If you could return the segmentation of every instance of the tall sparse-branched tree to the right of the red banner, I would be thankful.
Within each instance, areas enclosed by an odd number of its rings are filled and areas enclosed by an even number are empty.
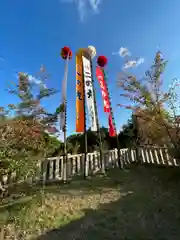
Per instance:
[[[138,135],[142,144],[164,144],[171,139],[170,118],[165,109],[169,93],[162,91],[162,74],[166,64],[162,54],[157,52],[145,78],[137,79],[127,73],[120,74],[118,84],[125,92],[121,96],[126,97],[130,105],[119,106],[133,110],[137,117]]]

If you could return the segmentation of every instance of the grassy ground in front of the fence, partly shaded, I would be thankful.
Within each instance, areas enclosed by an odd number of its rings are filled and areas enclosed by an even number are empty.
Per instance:
[[[43,198],[39,188],[26,190],[32,200],[0,209],[5,239],[180,239],[177,169],[114,169],[106,177],[48,186]]]

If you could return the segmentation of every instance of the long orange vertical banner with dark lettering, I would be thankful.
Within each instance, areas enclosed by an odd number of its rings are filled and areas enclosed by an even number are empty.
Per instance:
[[[84,132],[84,83],[82,53],[76,54],[76,132]]]

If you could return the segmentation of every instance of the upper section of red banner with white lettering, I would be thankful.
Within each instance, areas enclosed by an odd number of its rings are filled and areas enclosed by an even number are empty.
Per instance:
[[[110,112],[110,101],[108,97],[108,91],[107,91],[107,86],[106,82],[104,79],[104,73],[103,70],[100,67],[96,67],[96,77],[99,81],[100,88],[102,91],[102,97],[103,97],[103,102],[104,102],[104,112]]]

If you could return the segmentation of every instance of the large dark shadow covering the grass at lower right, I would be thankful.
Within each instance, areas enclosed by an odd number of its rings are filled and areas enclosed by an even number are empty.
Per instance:
[[[109,171],[108,178],[116,187],[119,184],[118,201],[84,209],[84,217],[37,240],[180,239],[179,169],[136,166],[125,172]]]

